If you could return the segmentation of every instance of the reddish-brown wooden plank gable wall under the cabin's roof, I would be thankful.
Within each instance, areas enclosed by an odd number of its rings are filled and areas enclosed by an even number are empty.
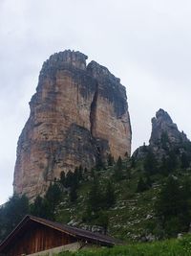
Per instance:
[[[76,239],[68,234],[39,223],[32,223],[24,232],[16,236],[5,254],[7,256],[32,254],[74,242]]]

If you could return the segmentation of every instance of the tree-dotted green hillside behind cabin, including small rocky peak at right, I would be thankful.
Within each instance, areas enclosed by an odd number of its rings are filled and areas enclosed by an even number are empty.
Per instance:
[[[80,166],[74,173],[62,172],[44,198],[38,196],[31,205],[27,198],[14,195],[0,209],[0,239],[24,213],[81,228],[102,229],[126,242],[154,241],[188,232],[191,143],[165,112],[160,110],[153,124],[149,146],[143,145],[132,157],[118,157],[115,163],[108,155],[108,164],[102,169],[100,165],[91,170]],[[11,211],[14,216],[9,221]]]

